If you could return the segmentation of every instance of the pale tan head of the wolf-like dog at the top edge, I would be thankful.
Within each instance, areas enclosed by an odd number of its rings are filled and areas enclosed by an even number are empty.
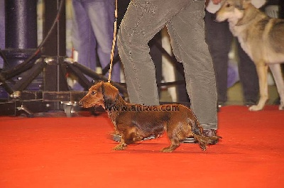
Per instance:
[[[253,6],[251,0],[224,0],[217,11],[216,20],[219,22],[228,20],[229,23],[236,25],[250,6]]]

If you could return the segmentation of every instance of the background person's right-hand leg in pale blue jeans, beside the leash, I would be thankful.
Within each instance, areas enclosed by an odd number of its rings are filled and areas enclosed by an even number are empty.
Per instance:
[[[97,55],[102,68],[107,67],[111,57],[112,40],[114,38],[114,1],[86,1],[84,7],[87,9],[89,21],[92,24],[97,40]],[[105,75],[106,77],[108,74]],[[111,80],[120,81],[120,65],[116,63],[112,67]]]

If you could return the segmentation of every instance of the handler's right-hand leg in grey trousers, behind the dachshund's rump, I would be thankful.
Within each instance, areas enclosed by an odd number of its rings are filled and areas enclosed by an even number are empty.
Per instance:
[[[195,1],[168,24],[173,52],[185,68],[192,111],[204,129],[217,129],[217,89],[204,40],[204,1]]]

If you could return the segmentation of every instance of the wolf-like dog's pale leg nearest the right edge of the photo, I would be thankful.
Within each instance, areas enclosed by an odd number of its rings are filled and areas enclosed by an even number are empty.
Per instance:
[[[271,69],[277,87],[277,91],[280,96],[279,110],[284,110],[284,82],[283,82],[280,64],[271,64],[268,66]]]

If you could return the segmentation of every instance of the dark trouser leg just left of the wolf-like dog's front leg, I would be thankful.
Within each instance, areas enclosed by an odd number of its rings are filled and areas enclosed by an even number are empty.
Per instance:
[[[259,96],[258,74],[256,65],[251,60],[249,55],[244,52],[238,41],[239,53],[239,78],[244,92],[244,104],[251,106],[256,104]]]

